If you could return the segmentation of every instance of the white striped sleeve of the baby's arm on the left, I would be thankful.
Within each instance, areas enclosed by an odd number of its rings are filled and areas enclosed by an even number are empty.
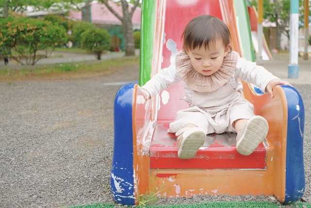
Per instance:
[[[166,90],[171,85],[177,84],[181,81],[180,76],[176,72],[175,63],[168,68],[160,70],[155,76],[141,87],[145,100],[157,95],[163,90]]]

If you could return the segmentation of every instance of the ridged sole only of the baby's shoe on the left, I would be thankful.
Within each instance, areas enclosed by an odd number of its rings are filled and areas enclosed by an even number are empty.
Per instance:
[[[183,141],[178,150],[180,159],[191,159],[205,142],[206,134],[201,129],[191,128],[184,132]]]

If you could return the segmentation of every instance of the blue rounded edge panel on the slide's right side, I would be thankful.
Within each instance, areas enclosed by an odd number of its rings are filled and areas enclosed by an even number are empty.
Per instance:
[[[299,93],[290,86],[281,86],[287,99],[288,126],[286,145],[285,201],[298,201],[305,192],[303,135],[305,109]]]

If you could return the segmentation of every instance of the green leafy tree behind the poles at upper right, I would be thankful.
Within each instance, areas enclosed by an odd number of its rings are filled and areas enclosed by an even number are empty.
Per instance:
[[[251,5],[257,8],[258,0],[251,0]],[[309,2],[310,4],[310,2]],[[281,34],[289,38],[291,0],[263,0],[263,19],[276,23],[276,49],[280,49]],[[303,1],[299,0],[299,19],[303,19]]]

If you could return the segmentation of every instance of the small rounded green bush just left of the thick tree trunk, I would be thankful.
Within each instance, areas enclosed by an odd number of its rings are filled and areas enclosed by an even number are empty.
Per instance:
[[[110,48],[110,41],[109,33],[101,28],[91,28],[81,34],[82,48],[93,52],[98,59]]]

